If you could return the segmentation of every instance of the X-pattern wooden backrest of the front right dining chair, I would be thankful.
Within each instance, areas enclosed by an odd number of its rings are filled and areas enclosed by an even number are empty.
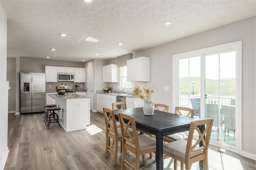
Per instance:
[[[185,159],[188,160],[193,152],[204,152],[204,154],[207,155],[208,152],[208,147],[210,143],[210,136],[212,133],[212,124],[213,124],[213,119],[200,119],[197,121],[192,121],[190,123],[190,129],[188,133],[188,142],[187,142],[187,147],[186,147],[186,154],[185,154]],[[205,126],[204,132],[201,133],[198,126]],[[196,132],[198,133],[198,140],[194,143],[193,142],[193,136],[194,136],[194,130],[196,129]],[[203,146],[202,147],[197,147],[197,145],[202,141]]]

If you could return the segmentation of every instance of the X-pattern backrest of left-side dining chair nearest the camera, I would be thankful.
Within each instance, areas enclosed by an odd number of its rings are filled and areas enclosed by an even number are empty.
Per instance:
[[[133,134],[137,134],[134,117],[130,115],[126,115],[124,113],[118,113],[118,117],[120,121],[120,128],[122,131],[123,145],[126,145],[127,143],[129,143],[129,145],[133,146],[133,148],[136,150],[136,154],[139,155],[140,145],[138,141],[138,135],[133,135]],[[124,122],[124,120],[128,122],[126,123]],[[128,128],[132,128],[132,133],[128,131]]]

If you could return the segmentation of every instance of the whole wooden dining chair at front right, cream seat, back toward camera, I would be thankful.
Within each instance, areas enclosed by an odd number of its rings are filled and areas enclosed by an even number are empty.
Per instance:
[[[212,132],[213,119],[201,119],[192,121],[188,134],[188,141],[179,140],[164,144],[164,154],[174,158],[174,170],[177,169],[177,161],[180,161],[181,167],[185,164],[185,169],[190,170],[190,165],[194,162],[203,160],[204,170],[208,170],[208,147],[210,143],[210,136]],[[203,133],[200,132],[198,126],[204,126]],[[199,139],[194,143],[194,129],[198,133]],[[203,146],[198,147],[202,141]]]

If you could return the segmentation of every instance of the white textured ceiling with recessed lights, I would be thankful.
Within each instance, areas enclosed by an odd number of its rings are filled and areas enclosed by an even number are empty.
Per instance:
[[[7,16],[8,57],[76,62],[116,58],[256,15],[254,0],[1,2]],[[164,25],[166,20],[172,24]],[[85,41],[87,37],[98,42]]]

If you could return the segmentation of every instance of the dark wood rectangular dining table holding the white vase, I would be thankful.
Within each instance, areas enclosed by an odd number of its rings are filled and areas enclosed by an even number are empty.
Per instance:
[[[163,136],[174,133],[188,131],[190,122],[198,118],[166,113],[163,111],[154,111],[154,115],[144,115],[142,107],[114,110],[116,119],[118,113],[132,115],[136,122],[136,127],[156,136],[156,169],[163,169]],[[204,131],[204,126],[199,127]],[[202,146],[202,143],[200,144]],[[203,169],[203,162],[200,161],[200,169]]]

